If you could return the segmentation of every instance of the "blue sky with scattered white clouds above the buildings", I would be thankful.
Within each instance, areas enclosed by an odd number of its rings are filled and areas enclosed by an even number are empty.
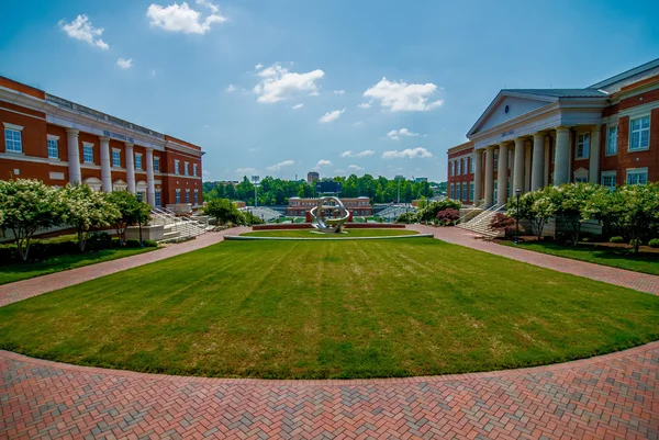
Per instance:
[[[501,88],[659,56],[658,2],[539,3],[11,1],[0,75],[202,146],[205,179],[445,180]]]

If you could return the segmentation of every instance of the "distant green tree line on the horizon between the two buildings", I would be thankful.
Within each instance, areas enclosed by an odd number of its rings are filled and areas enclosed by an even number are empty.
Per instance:
[[[387,179],[380,176],[373,178],[370,174],[357,177],[350,174],[348,178],[335,177],[333,179],[322,179],[322,181],[340,182],[342,198],[357,198],[366,195],[370,198],[371,203],[390,203],[398,200],[399,182],[393,179]],[[402,202],[411,202],[421,198],[432,198],[434,191],[431,185],[438,187],[439,192],[446,192],[446,182],[413,182],[402,180],[400,182],[400,196]],[[257,189],[259,205],[283,205],[293,196],[316,198],[315,183],[306,183],[305,180],[281,180],[272,177],[263,179]],[[203,182],[204,200],[228,199],[232,201],[242,200],[248,205],[254,205],[254,184],[247,179],[236,184],[223,184],[220,182]]]

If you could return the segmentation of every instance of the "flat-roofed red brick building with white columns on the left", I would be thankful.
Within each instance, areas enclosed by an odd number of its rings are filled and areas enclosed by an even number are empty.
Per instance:
[[[203,151],[0,77],[0,179],[126,190],[152,206],[202,203]]]

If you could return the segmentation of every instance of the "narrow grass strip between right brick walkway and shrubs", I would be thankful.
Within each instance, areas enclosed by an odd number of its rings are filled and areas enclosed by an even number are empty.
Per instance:
[[[515,246],[512,241],[499,242],[506,246]],[[572,247],[552,241],[526,241],[520,242],[516,246],[523,249],[535,250],[536,252],[659,275],[659,253],[640,252],[634,255],[630,249],[597,247],[585,244]]]

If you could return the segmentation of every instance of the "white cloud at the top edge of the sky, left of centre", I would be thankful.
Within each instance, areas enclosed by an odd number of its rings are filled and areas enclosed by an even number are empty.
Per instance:
[[[165,31],[182,32],[183,34],[205,34],[211,30],[213,23],[226,21],[215,4],[206,0],[197,0],[197,4],[210,9],[211,14],[202,20],[201,12],[191,9],[183,1],[180,5],[175,2],[168,7],[153,3],[146,10],[146,16],[150,19],[152,27],[161,27]]]

